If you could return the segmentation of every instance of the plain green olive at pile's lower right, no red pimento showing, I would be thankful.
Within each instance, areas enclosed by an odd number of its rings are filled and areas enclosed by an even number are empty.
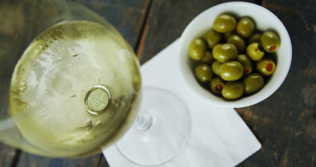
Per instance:
[[[252,94],[258,92],[263,87],[264,80],[260,74],[250,74],[244,79],[243,84],[245,86],[245,93]]]

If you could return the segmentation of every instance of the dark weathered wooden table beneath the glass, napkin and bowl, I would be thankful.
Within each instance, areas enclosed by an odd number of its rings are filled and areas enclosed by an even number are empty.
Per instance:
[[[199,13],[225,0],[77,0],[111,22],[141,64],[180,37]],[[238,166],[316,166],[316,1],[249,0],[272,11],[287,28],[292,65],[269,98],[237,112],[262,144]],[[0,144],[1,167],[107,167],[102,154],[44,158]]]

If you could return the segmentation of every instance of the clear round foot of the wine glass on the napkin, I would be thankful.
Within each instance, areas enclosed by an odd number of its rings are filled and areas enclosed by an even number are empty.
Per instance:
[[[183,150],[191,133],[191,117],[179,97],[167,90],[145,88],[138,115],[116,143],[125,158],[138,165],[155,166]]]

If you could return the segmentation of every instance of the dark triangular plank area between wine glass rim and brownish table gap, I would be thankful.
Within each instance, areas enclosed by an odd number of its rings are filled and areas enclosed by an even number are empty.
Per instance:
[[[110,22],[123,35],[133,49],[144,21],[149,0],[77,0]]]

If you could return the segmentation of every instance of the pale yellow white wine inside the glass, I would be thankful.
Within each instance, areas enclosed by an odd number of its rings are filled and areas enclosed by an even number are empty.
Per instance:
[[[34,147],[57,157],[100,152],[131,125],[140,102],[135,53],[110,25],[60,22],[15,66],[9,113]]]

